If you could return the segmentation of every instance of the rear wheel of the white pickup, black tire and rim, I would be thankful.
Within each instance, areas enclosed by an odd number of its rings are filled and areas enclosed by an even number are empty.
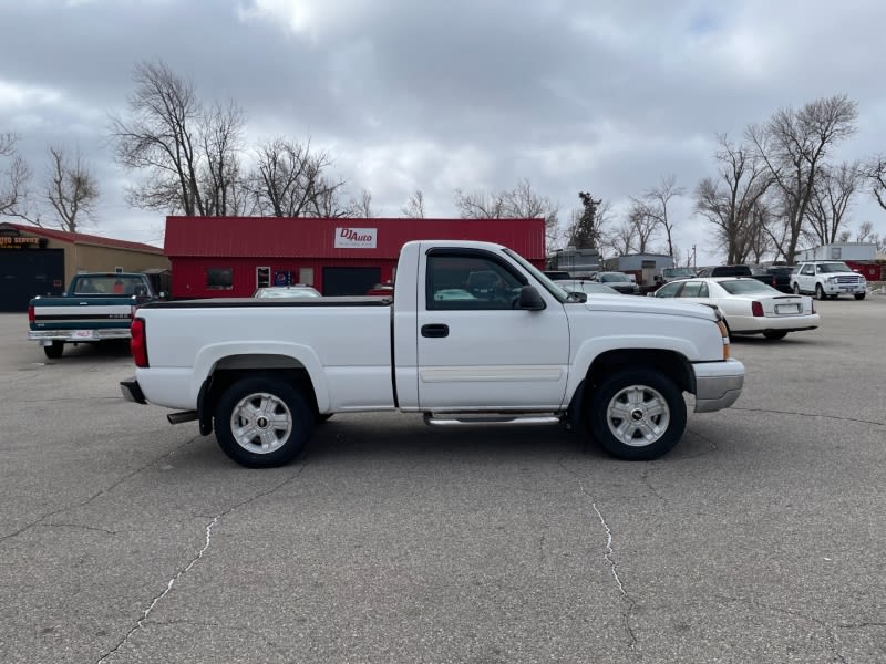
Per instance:
[[[301,454],[315,417],[292,385],[274,376],[254,376],[234,383],[222,395],[215,409],[215,437],[241,466],[282,466]]]

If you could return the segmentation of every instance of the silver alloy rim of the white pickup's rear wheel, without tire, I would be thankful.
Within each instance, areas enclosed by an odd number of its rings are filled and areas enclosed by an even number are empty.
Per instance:
[[[279,449],[289,439],[292,413],[274,394],[249,394],[237,402],[231,411],[230,433],[244,449],[268,454]]]

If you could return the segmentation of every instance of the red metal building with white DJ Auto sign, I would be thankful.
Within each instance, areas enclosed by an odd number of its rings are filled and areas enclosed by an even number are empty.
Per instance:
[[[286,283],[354,295],[394,279],[409,240],[498,242],[545,264],[544,219],[166,217],[164,253],[173,298],[249,297]]]

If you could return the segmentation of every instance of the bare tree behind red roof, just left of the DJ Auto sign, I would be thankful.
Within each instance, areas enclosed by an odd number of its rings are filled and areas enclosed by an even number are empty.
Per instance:
[[[348,216],[339,203],[344,181],[323,175],[331,163],[327,153],[312,152],[310,143],[278,137],[261,145],[248,178],[258,209],[272,217]]]

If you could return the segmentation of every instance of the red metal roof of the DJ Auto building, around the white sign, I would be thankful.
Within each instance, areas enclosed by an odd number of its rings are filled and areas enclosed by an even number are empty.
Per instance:
[[[374,229],[374,248],[337,248],[337,229]],[[544,219],[166,217],[169,257],[396,258],[410,240],[486,240],[545,258]]]

